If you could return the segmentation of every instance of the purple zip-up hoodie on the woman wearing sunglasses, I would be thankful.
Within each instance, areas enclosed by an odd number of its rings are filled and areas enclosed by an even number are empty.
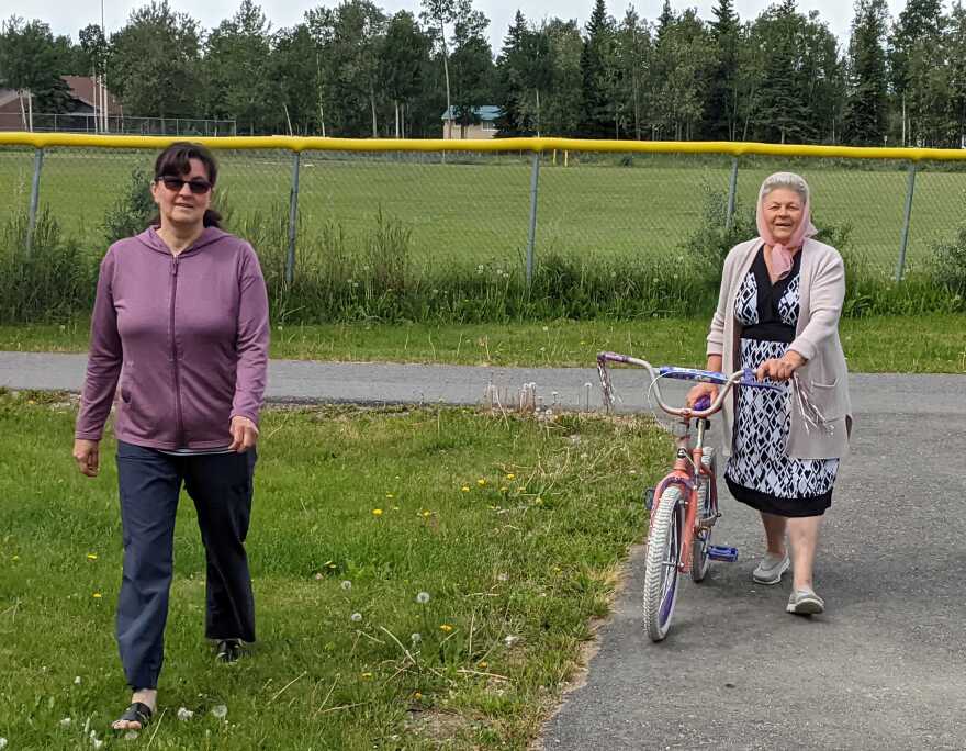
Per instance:
[[[100,440],[121,380],[114,435],[158,449],[232,442],[258,423],[268,369],[268,295],[251,246],[206,227],[177,257],[154,227],[101,261],[77,438]]]

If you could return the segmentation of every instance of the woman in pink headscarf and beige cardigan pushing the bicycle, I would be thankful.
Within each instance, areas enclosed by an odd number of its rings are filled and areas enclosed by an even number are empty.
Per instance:
[[[761,514],[767,552],[754,581],[778,584],[791,568],[786,609],[810,615],[824,610],[812,581],[816,547],[852,428],[838,328],[845,274],[839,253],[812,239],[809,189],[799,176],[778,172],[764,181],[757,231],[724,260],[707,367],[749,368],[759,380],[783,384],[739,389],[726,401],[724,480]],[[717,391],[699,384],[688,404]]]

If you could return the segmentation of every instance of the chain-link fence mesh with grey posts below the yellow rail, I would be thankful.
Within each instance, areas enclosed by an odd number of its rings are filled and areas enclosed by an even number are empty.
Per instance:
[[[386,243],[405,246],[400,262],[427,278],[460,269],[529,283],[552,259],[611,264],[613,274],[622,261],[687,264],[710,225],[753,236],[759,187],[777,170],[808,180],[816,224],[845,238],[843,253],[861,260],[853,268],[898,281],[929,269],[935,248],[956,237],[966,198],[962,162],[946,160],[598,153],[594,142],[538,153],[209,143],[226,227],[252,243],[267,276],[288,284],[327,264],[368,271],[386,262]],[[0,224],[26,216],[32,231],[44,215],[100,257],[113,239],[109,214],[130,202],[138,181],[147,187],[156,153],[154,144],[4,145],[0,135]],[[30,243],[29,232],[26,254]]]

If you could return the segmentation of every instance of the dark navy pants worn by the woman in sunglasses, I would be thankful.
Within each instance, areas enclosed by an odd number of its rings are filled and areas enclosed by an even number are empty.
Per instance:
[[[245,553],[255,461],[255,449],[176,457],[117,442],[124,536],[117,647],[132,688],[155,688],[161,672],[182,483],[198,509],[207,559],[205,637],[255,641]]]

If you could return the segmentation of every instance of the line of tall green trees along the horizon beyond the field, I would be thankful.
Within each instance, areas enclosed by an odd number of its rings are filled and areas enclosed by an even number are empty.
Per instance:
[[[42,21],[0,30],[0,86],[63,112],[61,75],[104,75],[139,116],[232,119],[239,133],[430,137],[502,110],[499,135],[959,147],[966,134],[966,10],[956,0],[855,0],[846,41],[817,11],[778,0],[741,19],[665,0],[649,21],[595,0],[587,24],[518,11],[498,51],[472,0],[387,14],[370,0],[306,11],[273,30],[261,8],[203,29],[154,0],[106,37]],[[453,135],[459,136],[457,132]]]

